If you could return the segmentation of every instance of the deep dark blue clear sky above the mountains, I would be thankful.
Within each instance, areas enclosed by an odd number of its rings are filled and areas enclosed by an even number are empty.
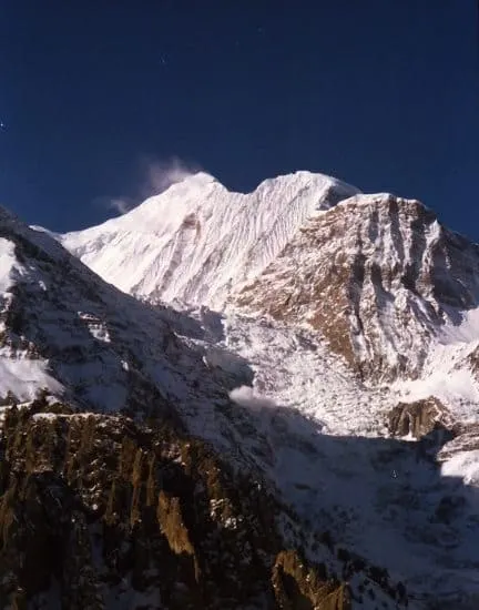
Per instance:
[[[3,0],[0,202],[81,228],[172,157],[417,197],[479,240],[473,0]]]

